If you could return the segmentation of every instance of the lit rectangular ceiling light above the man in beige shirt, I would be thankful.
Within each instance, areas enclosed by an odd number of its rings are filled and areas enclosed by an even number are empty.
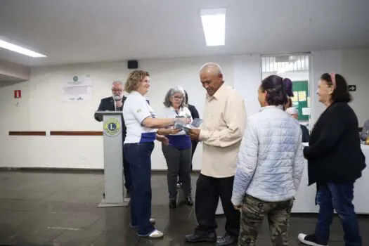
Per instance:
[[[226,8],[202,9],[200,12],[207,46],[226,43]]]

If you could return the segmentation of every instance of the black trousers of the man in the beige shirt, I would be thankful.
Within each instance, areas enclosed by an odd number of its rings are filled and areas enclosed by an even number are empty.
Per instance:
[[[198,227],[195,234],[205,235],[215,231],[216,207],[219,197],[226,214],[226,232],[238,236],[240,233],[240,212],[235,210],[232,202],[233,181],[235,177],[213,178],[200,174],[196,183],[195,214]]]

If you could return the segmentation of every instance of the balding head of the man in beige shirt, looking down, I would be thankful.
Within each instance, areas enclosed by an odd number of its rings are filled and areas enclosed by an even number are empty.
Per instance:
[[[200,80],[207,94],[213,96],[224,83],[221,66],[216,63],[205,63],[200,68]]]

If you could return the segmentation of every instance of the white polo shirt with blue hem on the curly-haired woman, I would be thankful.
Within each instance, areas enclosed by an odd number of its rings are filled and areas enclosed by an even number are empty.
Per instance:
[[[156,139],[157,129],[144,127],[141,123],[147,117],[155,118],[153,108],[137,91],[127,96],[123,107],[124,122],[127,127],[127,136],[124,143],[148,143]]]

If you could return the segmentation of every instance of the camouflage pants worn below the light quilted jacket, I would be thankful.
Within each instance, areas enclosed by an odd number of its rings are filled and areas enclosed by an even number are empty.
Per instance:
[[[273,246],[288,245],[288,226],[293,200],[264,202],[246,195],[241,209],[238,246],[254,246],[259,228],[268,217],[269,233]]]

